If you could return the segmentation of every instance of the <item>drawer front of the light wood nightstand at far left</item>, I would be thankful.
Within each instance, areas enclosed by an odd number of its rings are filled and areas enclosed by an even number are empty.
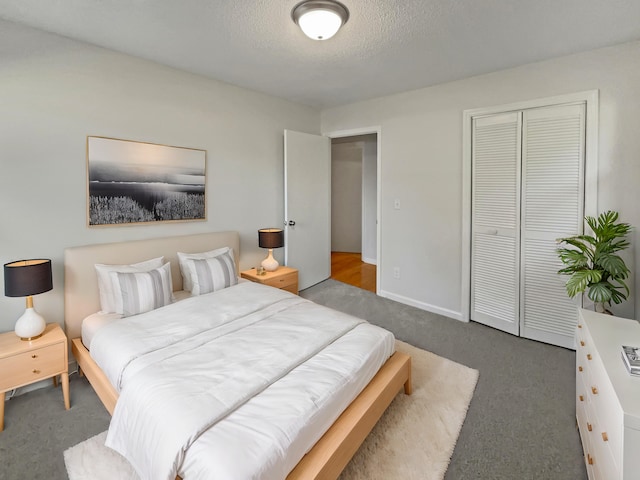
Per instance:
[[[60,342],[0,359],[0,391],[64,372],[65,349],[65,342]]]

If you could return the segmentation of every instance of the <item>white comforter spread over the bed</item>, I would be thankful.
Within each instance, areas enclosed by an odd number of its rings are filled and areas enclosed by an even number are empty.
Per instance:
[[[120,391],[107,445],[153,480],[283,478],[392,351],[382,329],[255,283],[114,322],[91,346]]]

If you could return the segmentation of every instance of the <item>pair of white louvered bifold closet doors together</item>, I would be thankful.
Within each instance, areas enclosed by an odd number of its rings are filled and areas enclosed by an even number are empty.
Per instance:
[[[471,320],[574,348],[556,239],[582,232],[585,102],[471,119]]]

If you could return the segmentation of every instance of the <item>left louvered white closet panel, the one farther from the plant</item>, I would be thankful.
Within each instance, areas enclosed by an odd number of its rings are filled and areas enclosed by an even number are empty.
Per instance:
[[[521,114],[474,118],[471,319],[518,334]]]

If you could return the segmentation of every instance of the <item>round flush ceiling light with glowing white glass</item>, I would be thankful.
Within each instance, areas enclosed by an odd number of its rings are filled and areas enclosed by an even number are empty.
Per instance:
[[[328,40],[349,20],[349,10],[333,0],[306,0],[291,10],[291,18],[313,40]]]

